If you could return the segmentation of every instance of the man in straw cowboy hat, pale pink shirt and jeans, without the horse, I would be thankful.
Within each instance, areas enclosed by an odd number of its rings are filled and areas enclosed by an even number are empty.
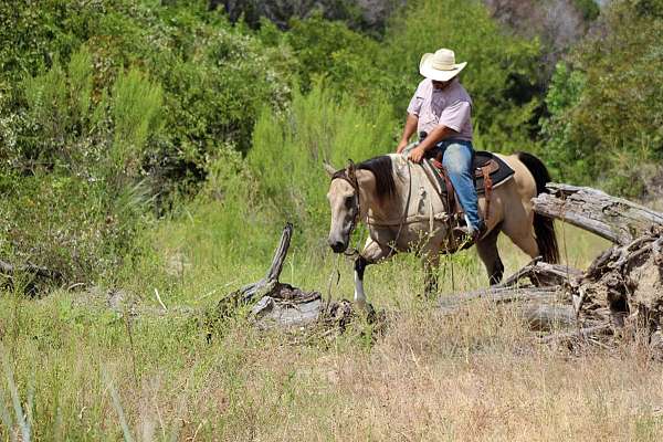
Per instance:
[[[419,72],[425,78],[410,101],[406,127],[396,151],[404,150],[414,162],[442,154],[442,165],[465,212],[466,225],[456,230],[476,241],[485,233],[486,224],[478,214],[472,179],[472,98],[457,78],[466,64],[456,64],[455,54],[449,49],[423,54]],[[419,141],[409,145],[414,130]]]

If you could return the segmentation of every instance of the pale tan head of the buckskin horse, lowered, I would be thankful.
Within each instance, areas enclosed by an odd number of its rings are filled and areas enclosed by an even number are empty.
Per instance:
[[[359,183],[355,165],[350,161],[345,169],[334,170],[325,165],[332,177],[327,199],[332,209],[332,225],[327,242],[335,253],[348,249],[350,234],[359,221]]]

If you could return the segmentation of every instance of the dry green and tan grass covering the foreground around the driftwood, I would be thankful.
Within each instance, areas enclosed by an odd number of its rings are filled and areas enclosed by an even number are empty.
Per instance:
[[[576,266],[606,246],[577,231],[566,234],[573,248],[564,255]],[[507,273],[528,261],[513,250],[504,255]],[[284,280],[326,287],[336,265],[344,276],[334,295],[348,295],[349,264],[335,257],[295,254]],[[451,291],[451,262],[446,266],[442,285]],[[454,257],[453,267],[456,290],[484,284],[472,253]],[[515,311],[484,303],[442,318],[415,295],[421,274],[414,269],[412,259],[401,257],[367,273],[372,302],[389,312],[381,336],[356,324],[339,337],[303,339],[257,332],[240,317],[218,326],[207,343],[202,317],[127,320],[80,295],[34,302],[8,294],[0,301],[3,354],[34,440],[663,436],[663,366],[646,349],[621,344],[570,354],[541,346]],[[209,269],[188,272],[159,287],[169,307],[208,308],[219,294],[200,294],[229,281]],[[248,282],[256,272],[235,269],[233,276]],[[158,305],[151,285],[160,283],[143,280],[147,287],[137,296],[144,305]],[[0,390],[10,414],[11,383],[4,379]],[[13,422],[11,430],[0,428],[4,440],[18,436]]]

